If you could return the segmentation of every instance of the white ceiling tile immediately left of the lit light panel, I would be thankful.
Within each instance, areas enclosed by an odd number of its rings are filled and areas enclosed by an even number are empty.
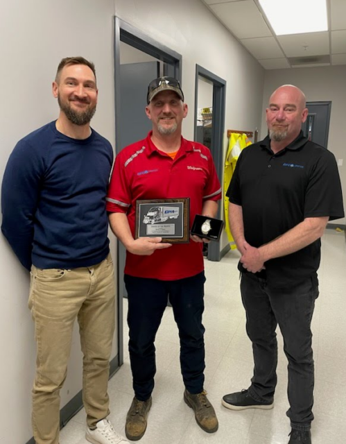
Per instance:
[[[252,0],[210,5],[227,28],[239,39],[270,37],[272,33]]]

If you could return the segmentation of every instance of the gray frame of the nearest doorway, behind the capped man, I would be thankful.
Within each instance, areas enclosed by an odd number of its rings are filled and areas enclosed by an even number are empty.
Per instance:
[[[167,46],[153,40],[139,29],[124,22],[119,17],[114,16],[114,104],[115,104],[115,153],[121,151],[119,115],[121,113],[121,79],[120,79],[120,42],[129,44],[139,51],[143,51],[160,60],[168,63],[173,71],[165,72],[164,75],[173,75],[177,80],[182,79],[182,56],[169,49]],[[120,269],[120,242],[116,243],[116,285],[118,294],[118,350],[119,366],[123,364],[123,270]]]

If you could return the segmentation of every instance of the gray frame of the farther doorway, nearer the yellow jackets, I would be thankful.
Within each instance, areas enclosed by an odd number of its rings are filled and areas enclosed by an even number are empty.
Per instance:
[[[203,77],[213,84],[213,125],[211,128],[211,148],[210,152],[214,159],[216,173],[222,186],[223,180],[223,137],[225,133],[225,103],[226,103],[226,80],[216,76],[216,74],[207,69],[196,65],[195,80],[195,130],[194,140],[197,138],[197,119],[198,119],[198,77]],[[221,216],[221,205],[218,205],[218,219]],[[220,241],[210,242],[208,244],[208,260],[220,261]]]

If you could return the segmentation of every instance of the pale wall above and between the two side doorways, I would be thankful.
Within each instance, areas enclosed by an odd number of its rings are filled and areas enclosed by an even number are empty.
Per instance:
[[[196,64],[227,81],[225,130],[261,124],[264,70],[200,0],[114,0],[116,15],[182,55],[182,89],[189,105],[184,137],[193,140]],[[246,26],[246,24],[244,24]],[[227,133],[224,137],[227,146]],[[227,245],[223,235],[220,248]]]

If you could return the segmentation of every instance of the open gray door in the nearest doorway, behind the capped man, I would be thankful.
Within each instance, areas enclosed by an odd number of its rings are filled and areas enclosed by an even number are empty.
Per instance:
[[[119,153],[125,146],[144,139],[151,130],[151,122],[146,117],[146,93],[151,80],[159,76],[159,62],[128,63],[120,65],[120,146]],[[119,298],[127,296],[123,282],[126,249],[118,242]]]

